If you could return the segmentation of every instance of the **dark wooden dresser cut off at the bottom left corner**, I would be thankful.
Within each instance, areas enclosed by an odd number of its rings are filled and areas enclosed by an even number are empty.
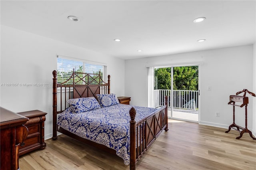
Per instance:
[[[19,169],[19,145],[28,135],[28,128],[24,124],[28,118],[7,109],[0,108],[0,169]]]

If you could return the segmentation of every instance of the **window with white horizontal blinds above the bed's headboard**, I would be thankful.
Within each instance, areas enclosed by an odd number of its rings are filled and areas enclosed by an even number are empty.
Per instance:
[[[107,66],[101,63],[90,63],[87,61],[76,61],[76,59],[67,59],[66,57],[58,56],[57,58],[57,73],[58,73],[58,82],[62,83],[66,81],[73,73],[73,69],[75,72],[80,73],[101,73],[102,80],[105,82],[107,77]],[[70,83],[67,82],[67,83]]]

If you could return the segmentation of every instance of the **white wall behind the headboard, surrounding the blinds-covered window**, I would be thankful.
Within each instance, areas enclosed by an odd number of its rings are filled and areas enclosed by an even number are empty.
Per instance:
[[[23,112],[46,113],[45,138],[52,136],[52,71],[57,69],[56,55],[76,57],[107,64],[111,75],[111,93],[124,95],[124,60],[1,25],[1,107]],[[23,83],[51,83],[50,87],[24,87]]]

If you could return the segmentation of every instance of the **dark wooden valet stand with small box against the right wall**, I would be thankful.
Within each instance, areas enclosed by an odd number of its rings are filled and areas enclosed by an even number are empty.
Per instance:
[[[238,94],[240,94],[242,92],[244,92],[243,96],[237,96]],[[237,92],[236,95],[230,95],[230,97],[229,97],[230,102],[228,102],[228,105],[233,106],[233,123],[228,127],[228,130],[225,133],[228,133],[232,128],[232,129],[240,132],[240,136],[236,137],[236,139],[240,139],[245,132],[248,132],[250,134],[251,138],[256,140],[256,138],[254,138],[252,136],[252,132],[250,130],[248,130],[248,128],[247,128],[247,105],[249,103],[249,99],[248,99],[248,97],[245,96],[246,92],[255,97],[255,94],[248,91],[247,89]],[[240,102],[240,103],[242,103],[242,105],[235,105],[236,102]],[[236,123],[235,123],[235,106],[236,107],[244,107],[245,106],[245,128],[240,127],[240,126],[236,125]]]

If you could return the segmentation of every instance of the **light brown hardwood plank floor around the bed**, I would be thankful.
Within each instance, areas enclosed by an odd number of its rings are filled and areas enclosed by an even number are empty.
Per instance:
[[[138,170],[256,170],[256,140],[227,129],[172,121],[146,154]],[[128,170],[122,158],[68,136],[48,139],[44,150],[20,156],[20,170]]]

